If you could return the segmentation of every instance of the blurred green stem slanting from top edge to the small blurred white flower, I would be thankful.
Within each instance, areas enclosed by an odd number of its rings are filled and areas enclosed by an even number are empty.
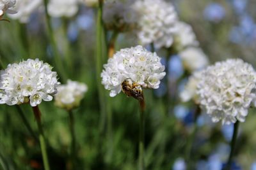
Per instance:
[[[51,46],[52,46],[52,52],[53,52],[53,55],[54,55],[53,59],[54,59],[54,62],[56,64],[56,66],[58,67],[58,70],[59,70],[58,73],[60,74],[63,81],[66,81],[67,76],[65,74],[66,72],[65,72],[65,69],[63,67],[61,56],[58,52],[58,47],[57,47],[56,41],[54,39],[54,34],[53,34],[52,27],[51,27],[51,17],[49,16],[49,13],[48,13],[47,4],[48,4],[48,0],[44,0],[44,10],[45,10],[47,32],[48,32],[49,40],[50,40],[50,43],[51,43]]]

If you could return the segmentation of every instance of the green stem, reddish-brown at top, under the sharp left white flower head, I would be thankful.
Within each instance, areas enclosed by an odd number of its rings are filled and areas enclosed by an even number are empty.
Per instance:
[[[38,131],[39,131],[39,141],[40,141],[40,146],[41,146],[41,152],[42,152],[42,157],[43,157],[43,162],[44,162],[44,169],[45,170],[50,170],[49,166],[49,161],[47,157],[47,149],[45,145],[45,137],[44,137],[44,131],[43,127],[41,124],[41,112],[38,108],[38,106],[32,107],[35,119],[36,119],[36,124],[38,126]]]

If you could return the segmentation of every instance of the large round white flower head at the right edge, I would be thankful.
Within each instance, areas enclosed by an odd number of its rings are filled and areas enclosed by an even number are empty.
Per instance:
[[[244,122],[248,108],[255,106],[256,72],[241,59],[216,62],[202,72],[198,83],[201,106],[222,124]]]

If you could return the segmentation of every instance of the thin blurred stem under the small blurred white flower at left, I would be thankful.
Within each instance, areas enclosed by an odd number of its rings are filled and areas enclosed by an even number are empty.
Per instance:
[[[69,128],[70,128],[70,134],[72,138],[71,142],[71,160],[72,160],[72,169],[76,169],[76,135],[74,130],[74,115],[72,111],[68,111],[68,117],[69,117]]]

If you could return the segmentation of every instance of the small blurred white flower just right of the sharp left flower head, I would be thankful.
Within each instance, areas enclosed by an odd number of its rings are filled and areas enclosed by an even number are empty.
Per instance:
[[[57,87],[58,93],[54,96],[56,106],[67,110],[76,108],[79,106],[87,89],[84,83],[68,80],[67,85]]]

